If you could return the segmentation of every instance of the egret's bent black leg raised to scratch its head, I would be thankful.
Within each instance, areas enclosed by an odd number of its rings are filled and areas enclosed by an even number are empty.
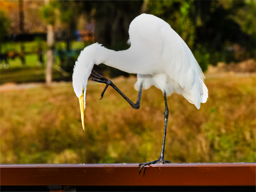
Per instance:
[[[115,84],[111,80],[107,79],[106,77],[103,77],[102,75],[99,75],[94,70],[91,71],[91,76],[93,77],[91,80],[106,84],[105,88],[103,89],[103,91],[101,93],[101,99],[102,99],[107,87],[110,85],[131,105],[131,107],[133,107],[133,109],[139,109],[139,107],[141,105],[141,94],[142,94],[142,89],[143,89],[142,84],[139,87],[137,102],[133,103],[128,97],[125,96],[125,94],[122,93],[122,91],[120,91],[117,88],[117,86],[115,86]]]

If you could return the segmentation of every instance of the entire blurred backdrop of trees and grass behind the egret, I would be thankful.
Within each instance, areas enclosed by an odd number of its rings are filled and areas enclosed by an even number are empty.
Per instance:
[[[254,0],[2,0],[0,163],[122,163],[158,157],[164,111],[159,89],[143,91],[141,108],[135,110],[112,88],[99,101],[104,85],[90,81],[83,133],[71,83],[80,51],[94,42],[129,48],[129,24],[141,13],[162,18],[183,38],[206,73],[209,91],[199,110],[181,95],[168,97],[165,159],[256,161]],[[103,64],[95,70],[136,100],[136,75]]]

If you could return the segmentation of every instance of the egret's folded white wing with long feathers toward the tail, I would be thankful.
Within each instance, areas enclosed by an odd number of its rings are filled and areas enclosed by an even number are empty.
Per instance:
[[[163,58],[169,61],[167,75],[185,89],[183,96],[186,99],[187,93],[191,95],[199,109],[200,103],[205,103],[208,98],[204,74],[187,44],[173,29],[162,28],[161,32],[166,37],[163,41]]]

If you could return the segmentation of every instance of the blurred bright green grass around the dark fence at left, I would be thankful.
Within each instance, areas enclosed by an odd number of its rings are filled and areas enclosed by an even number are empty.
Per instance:
[[[46,50],[46,42],[25,42],[25,51],[31,52],[38,49],[38,44],[42,44],[43,50]],[[83,49],[89,43],[73,41],[71,44],[71,49]],[[4,43],[2,46],[2,52],[6,53],[8,51],[20,51],[21,43]],[[56,48],[65,49],[65,42],[57,42]],[[28,82],[44,82],[45,81],[45,70],[46,70],[46,61],[47,57],[44,54],[44,64],[38,66],[38,55],[37,54],[28,54],[25,55],[26,65],[22,67],[22,61],[20,58],[16,57],[14,59],[8,59],[9,68],[2,68],[0,70],[0,84],[4,83],[28,83]],[[1,61],[1,64],[4,64],[4,61]],[[55,55],[55,63],[60,66],[60,58]],[[63,76],[58,70],[53,69],[53,80],[71,80],[71,74],[68,77]]]

